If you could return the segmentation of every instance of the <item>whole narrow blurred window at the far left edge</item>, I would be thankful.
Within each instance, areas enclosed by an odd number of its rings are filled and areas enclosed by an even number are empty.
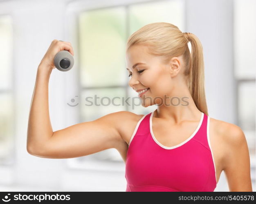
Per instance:
[[[0,16],[0,163],[13,164],[14,125],[12,91],[12,24],[10,16]]]

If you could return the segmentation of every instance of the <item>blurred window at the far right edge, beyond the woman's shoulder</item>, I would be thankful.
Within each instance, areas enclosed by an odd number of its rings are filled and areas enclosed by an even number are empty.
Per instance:
[[[256,2],[234,2],[234,74],[237,84],[238,126],[245,133],[255,186],[255,69]]]

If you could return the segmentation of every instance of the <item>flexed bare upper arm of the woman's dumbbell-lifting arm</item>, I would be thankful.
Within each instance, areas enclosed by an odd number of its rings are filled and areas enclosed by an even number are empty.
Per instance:
[[[122,138],[119,133],[121,117],[127,111],[104,115],[55,131],[52,137],[32,154],[45,158],[72,158],[116,148]]]

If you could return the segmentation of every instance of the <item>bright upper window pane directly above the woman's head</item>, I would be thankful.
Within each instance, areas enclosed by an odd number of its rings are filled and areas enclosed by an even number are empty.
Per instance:
[[[129,7],[130,35],[154,22],[170,22],[184,30],[184,1],[144,2]],[[153,15],[152,15],[153,14]]]

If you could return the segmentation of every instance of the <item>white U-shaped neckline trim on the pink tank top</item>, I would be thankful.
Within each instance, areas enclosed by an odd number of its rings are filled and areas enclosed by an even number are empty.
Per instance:
[[[201,124],[202,124],[203,119],[204,119],[204,113],[201,112],[201,119],[200,119],[200,122],[199,122],[197,128],[195,129],[195,131],[192,133],[192,135],[191,135],[189,138],[187,138],[185,141],[183,141],[182,143],[177,144],[177,145],[175,145],[175,146],[164,146],[163,144],[161,144],[160,142],[157,141],[157,139],[155,138],[155,135],[154,135],[154,133],[153,133],[153,129],[152,129],[152,118],[153,118],[153,114],[154,114],[154,111],[151,113],[151,115],[150,115],[150,120],[149,120],[149,124],[150,124],[150,133],[151,133],[151,136],[153,137],[153,140],[155,140],[155,142],[156,142],[159,146],[161,146],[162,148],[164,148],[164,149],[175,149],[175,148],[177,148],[177,147],[179,147],[179,146],[182,146],[182,145],[185,144],[186,142],[189,142],[189,140],[191,140],[192,137],[194,137],[194,135],[195,135],[195,134],[198,132],[198,130],[200,129]]]

